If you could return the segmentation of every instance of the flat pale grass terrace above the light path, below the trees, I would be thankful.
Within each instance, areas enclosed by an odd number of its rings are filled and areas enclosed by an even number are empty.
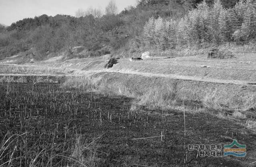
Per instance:
[[[237,49],[239,48],[239,49]],[[237,80],[237,81],[248,81],[256,82],[256,53],[250,52],[251,49],[242,49],[237,46],[228,48],[222,46],[222,50],[230,50],[234,53],[235,59],[207,59],[207,51],[204,54],[195,54],[193,56],[183,55],[182,57],[176,57],[177,55],[170,53],[166,54],[166,57],[172,57],[172,59],[156,59],[156,60],[143,60],[143,61],[132,61],[129,59],[119,59],[112,71],[121,72],[139,72],[139,73],[153,73],[153,74],[175,74],[180,76],[190,76],[208,79],[219,80]],[[244,51],[244,52],[243,52]],[[242,53],[241,53],[242,52]],[[154,56],[159,57],[162,53],[155,54]],[[141,53],[136,53],[136,57],[140,56]],[[92,61],[91,59],[83,59],[83,61]],[[72,63],[72,60],[69,61]],[[84,70],[100,70],[103,69],[106,61],[97,59],[94,64],[84,64]],[[201,66],[207,66],[209,68],[202,68]]]

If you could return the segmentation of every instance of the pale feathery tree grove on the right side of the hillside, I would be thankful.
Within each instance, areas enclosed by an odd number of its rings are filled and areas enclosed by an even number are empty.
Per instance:
[[[240,1],[226,9],[220,0],[212,7],[206,1],[184,17],[151,17],[144,26],[140,44],[144,47],[172,49],[177,45],[252,41],[256,37],[256,2]]]

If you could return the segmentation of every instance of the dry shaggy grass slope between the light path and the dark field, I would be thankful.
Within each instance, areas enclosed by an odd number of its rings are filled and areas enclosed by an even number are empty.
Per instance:
[[[91,73],[70,77],[64,87],[82,88],[104,95],[122,95],[136,99],[140,105],[161,108],[194,105],[201,102],[209,108],[248,109],[256,106],[254,87],[182,81],[121,73]],[[250,105],[249,105],[250,104]]]

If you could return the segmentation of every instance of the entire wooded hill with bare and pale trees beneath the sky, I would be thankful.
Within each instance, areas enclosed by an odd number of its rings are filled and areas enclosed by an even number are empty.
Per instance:
[[[88,57],[251,41],[256,36],[255,14],[255,0],[139,0],[119,14],[112,1],[105,12],[80,11],[78,17],[44,14],[0,26],[0,58],[31,48],[44,59],[75,46],[84,46],[87,52],[82,56]]]

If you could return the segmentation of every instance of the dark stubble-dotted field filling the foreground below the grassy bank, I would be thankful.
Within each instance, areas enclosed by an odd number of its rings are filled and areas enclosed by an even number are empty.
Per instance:
[[[8,140],[8,147],[0,145],[0,155],[6,149],[0,165],[17,157],[9,165],[29,166],[33,162],[35,166],[78,166],[63,157],[72,156],[77,136],[86,143],[95,139],[96,166],[238,167],[256,161],[256,134],[235,120],[211,114],[185,113],[185,136],[183,112],[149,108],[130,111],[133,99],[124,96],[66,90],[60,84],[4,83],[0,84],[0,99],[2,145],[13,134],[23,134],[12,138],[13,142]],[[165,136],[162,141],[161,137],[135,139],[160,136],[161,132]],[[197,151],[188,151],[189,144],[232,143],[225,137],[246,144],[246,157],[197,157]],[[88,157],[89,152],[82,154]]]

